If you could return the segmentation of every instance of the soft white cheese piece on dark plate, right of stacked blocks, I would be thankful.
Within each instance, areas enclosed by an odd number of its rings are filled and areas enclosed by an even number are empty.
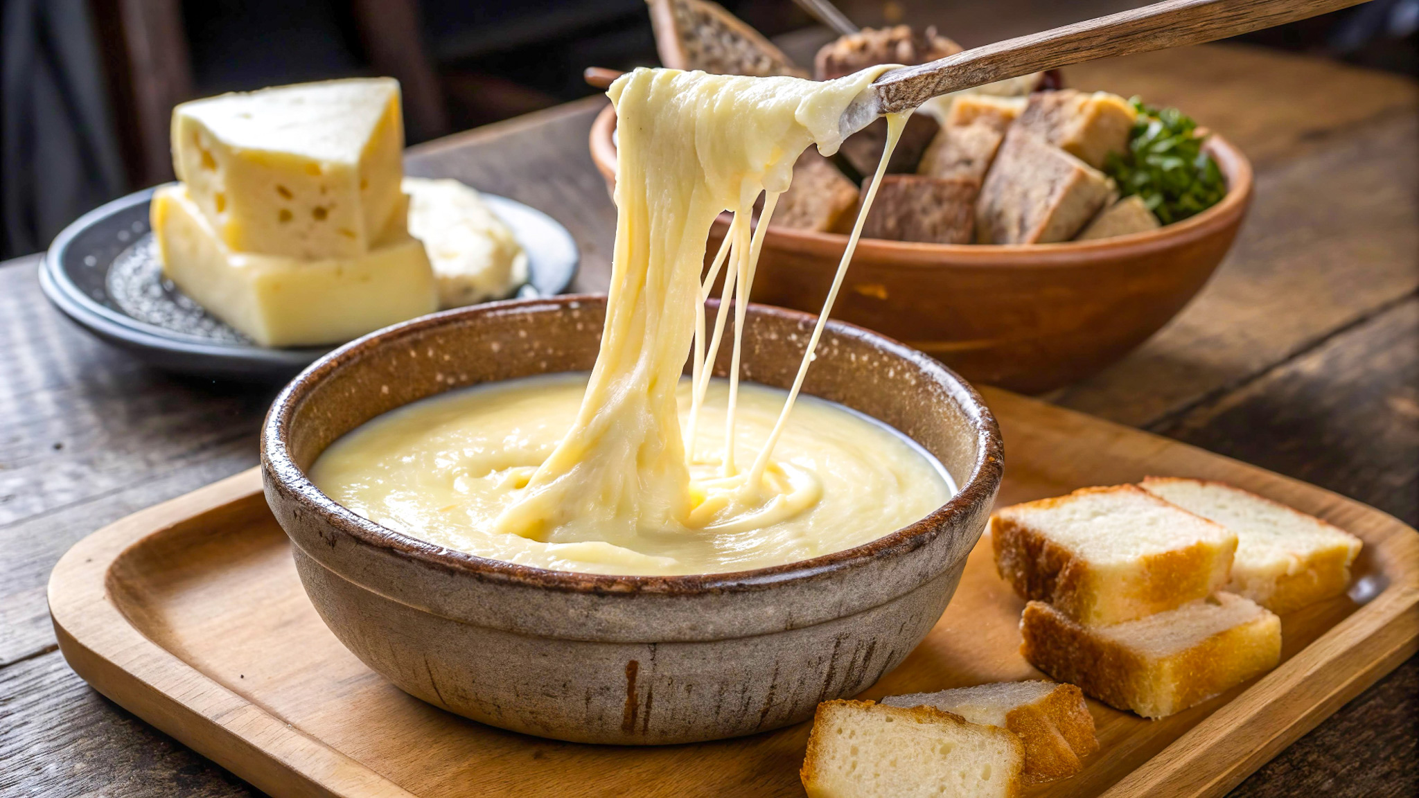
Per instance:
[[[512,230],[458,180],[404,177],[409,234],[429,251],[438,307],[499,300],[528,281],[528,256]]]

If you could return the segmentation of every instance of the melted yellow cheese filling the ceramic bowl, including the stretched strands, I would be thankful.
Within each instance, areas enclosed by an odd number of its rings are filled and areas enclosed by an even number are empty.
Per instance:
[[[335,491],[336,500],[343,496],[348,505],[363,507],[372,518],[377,514],[414,537],[453,540],[444,545],[501,559],[623,574],[711,572],[790,562],[858,545],[938,507],[949,497],[949,487],[927,457],[902,449],[900,439],[864,432],[881,430],[840,408],[816,412],[807,427],[813,434],[803,434],[805,440],[797,440],[800,433],[793,432],[799,420],[790,422],[812,352],[905,116],[888,119],[883,162],[868,186],[792,390],[786,396],[778,393],[782,396],[778,403],[768,399],[775,396],[772,390],[759,386],[741,390],[738,381],[742,356],[738,332],[744,329],[768,227],[761,223],[751,230],[753,203],[762,195],[762,217],[772,217],[799,153],[813,143],[824,155],[836,152],[843,111],[888,68],[876,67],[827,82],[677,70],[636,70],[619,78],[609,92],[619,115],[620,166],[616,246],[600,352],[580,403],[566,423],[549,420],[538,427],[536,436],[508,432],[497,456],[543,440],[539,436],[552,429],[546,425],[555,426],[555,446],[536,449],[535,467],[501,461],[501,467],[484,469],[478,461],[474,471],[480,479],[497,474],[495,498],[450,503],[457,513],[474,514],[471,525],[458,528],[475,530],[477,541],[465,532],[448,538],[450,525],[427,511],[417,500],[419,490],[393,500],[379,498],[377,490],[363,497],[352,494],[346,488],[352,480],[359,481],[362,471],[342,469],[341,477],[325,466],[333,452],[345,452],[343,442],[316,464],[316,483],[326,493]],[[702,281],[705,240],[715,216],[724,210],[734,212],[735,222]],[[704,298],[721,268],[725,301],[705,341]],[[738,301],[731,305],[732,297]],[[725,388],[717,392],[724,396],[721,409],[715,396],[707,396],[711,381],[705,364],[715,362],[731,307],[732,365]],[[683,385],[681,369],[691,342],[692,378]],[[526,416],[534,412],[532,405],[522,402],[521,409],[480,405],[471,423],[480,425],[478,429],[525,430],[536,426]],[[685,405],[688,436],[680,416]],[[541,406],[539,412],[555,415],[551,406]],[[819,427],[853,430],[840,439],[860,444],[834,447],[823,442],[815,449]],[[414,427],[409,432],[416,437],[430,434]],[[790,439],[796,443],[790,444]],[[421,452],[413,439],[403,446],[410,453]],[[487,446],[497,449],[495,443],[473,449]],[[902,450],[911,456],[880,456]],[[463,452],[471,449],[465,446]],[[342,457],[358,460],[353,453]],[[423,461],[438,471],[453,460],[423,457]],[[851,476],[827,490],[824,480],[834,473]],[[846,487],[880,483],[898,490],[864,493]],[[420,490],[451,498],[429,486]],[[847,505],[827,500],[839,493],[851,497]],[[390,501],[420,508],[410,521],[390,514]],[[376,511],[380,507],[386,510]],[[492,550],[490,540],[497,541]],[[724,554],[727,550],[755,554],[736,557]]]

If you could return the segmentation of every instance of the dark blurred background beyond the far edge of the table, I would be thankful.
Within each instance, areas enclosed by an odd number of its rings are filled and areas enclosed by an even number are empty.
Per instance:
[[[0,1],[0,257],[170,180],[167,121],[183,99],[393,75],[417,143],[592,94],[587,65],[657,62],[643,0]],[[722,4],[800,62],[832,38],[792,0]],[[1142,4],[837,3],[857,24],[935,24],[966,47]],[[1416,27],[1419,0],[1372,0],[1243,40],[1415,74]]]

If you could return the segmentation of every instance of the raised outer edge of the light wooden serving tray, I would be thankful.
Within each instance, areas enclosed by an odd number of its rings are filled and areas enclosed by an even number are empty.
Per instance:
[[[982,393],[988,405],[1060,413],[1156,439],[1161,447],[1229,460],[1261,471],[1279,484],[1324,491],[1338,503],[1384,515],[1393,525],[1385,548],[1398,550],[1392,552],[1398,555],[1398,569],[1388,574],[1391,582],[1379,595],[1103,795],[1220,795],[1419,650],[1419,531],[1403,521],[1325,488],[1186,443],[999,389]],[[135,629],[106,594],[108,568],[128,547],[184,518],[260,491],[260,470],[250,469],[128,515],[77,542],[55,565],[48,585],[60,650],[99,693],[265,792],[412,797],[162,649]],[[210,700],[199,701],[199,697]],[[280,750],[294,747],[299,755],[287,757],[272,750],[278,741]],[[238,753],[228,754],[231,748]]]

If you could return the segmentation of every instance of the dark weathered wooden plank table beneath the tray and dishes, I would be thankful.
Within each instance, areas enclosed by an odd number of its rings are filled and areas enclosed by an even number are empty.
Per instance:
[[[1300,477],[1419,524],[1419,87],[1240,47],[1069,71],[1178,105],[1247,152],[1257,196],[1212,283],[1108,371],[1050,400]],[[606,285],[614,209],[586,152],[600,98],[416,148],[558,217],[576,288]],[[254,791],[89,690],[44,585],[77,540],[257,463],[274,388],[170,376],[72,328],[34,257],[0,266],[0,795]],[[1419,657],[1237,788],[1413,795]]]

